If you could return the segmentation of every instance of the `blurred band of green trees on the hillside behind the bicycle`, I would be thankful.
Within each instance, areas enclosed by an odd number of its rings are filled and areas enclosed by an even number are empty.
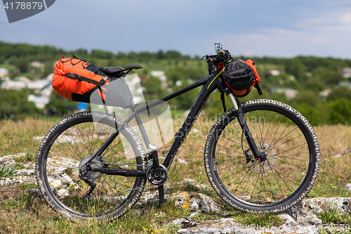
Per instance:
[[[71,57],[72,55],[84,58],[98,66],[143,65],[143,70],[138,70],[138,74],[146,99],[161,98],[171,91],[181,89],[208,75],[206,61],[201,61],[201,58],[197,56],[182,55],[178,51],[112,53],[97,49],[87,51],[84,48],[66,51],[54,46],[11,44],[0,41],[0,67],[8,69],[11,79],[19,76],[29,79],[44,78],[53,72],[55,61],[62,56]],[[248,59],[246,56],[239,55],[233,55],[233,58]],[[342,73],[345,67],[351,67],[350,59],[314,56],[251,57],[251,59],[256,63],[258,74],[262,79],[260,86],[264,94],[258,96],[253,89],[249,96],[241,100],[253,98],[281,100],[299,110],[314,125],[351,123],[351,92],[349,83],[347,83],[350,82],[350,78],[345,77]],[[30,65],[33,61],[43,63],[44,68],[34,69]],[[167,77],[166,82],[161,81],[159,77],[152,77],[151,71],[153,70],[164,71]],[[278,72],[272,74],[272,70]],[[277,93],[277,88],[293,89],[297,93],[291,98],[284,93]],[[188,110],[197,92],[191,91],[171,100],[171,108],[178,112]],[[322,92],[324,94],[321,94]],[[44,115],[48,112],[65,115],[77,107],[77,103],[63,100],[53,92],[46,110],[37,110],[34,103],[27,100],[30,93],[32,93],[30,90],[1,91],[0,118]],[[12,103],[7,102],[9,98]],[[219,103],[219,93],[214,93],[206,104],[204,115],[223,112]]]

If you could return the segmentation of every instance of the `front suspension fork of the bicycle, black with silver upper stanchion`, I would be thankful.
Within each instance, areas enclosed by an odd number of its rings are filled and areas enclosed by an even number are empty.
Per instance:
[[[230,103],[232,104],[232,107],[234,109],[234,115],[237,117],[238,122],[241,126],[241,129],[243,131],[243,134],[246,138],[247,143],[249,144],[249,147],[251,149],[251,152],[253,153],[253,156],[255,157],[258,162],[264,161],[265,160],[265,155],[261,154],[260,151],[257,148],[257,145],[255,141],[253,140],[253,136],[251,135],[251,132],[249,130],[249,127],[246,124],[246,120],[244,117],[244,114],[241,110],[241,108],[237,104],[237,100],[235,100],[233,93],[227,93],[227,97],[230,100]],[[249,149],[249,150],[250,150]],[[245,156],[246,156],[246,163],[251,162],[251,156],[249,155],[249,150],[246,150]]]

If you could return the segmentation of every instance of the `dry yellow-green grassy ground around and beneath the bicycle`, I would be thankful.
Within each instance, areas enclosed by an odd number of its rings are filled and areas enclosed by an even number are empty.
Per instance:
[[[40,142],[33,137],[44,136],[57,120],[27,118],[19,122],[1,121],[0,157],[25,152],[27,157],[24,160],[34,162]],[[194,129],[199,131],[188,136],[177,157],[188,163],[180,164],[175,160],[169,171],[167,183],[171,184],[172,192],[197,190],[221,203],[220,198],[211,189],[201,190],[178,184],[185,178],[191,178],[209,185],[204,170],[203,152],[211,123],[203,120],[200,118],[194,125]],[[345,190],[345,184],[351,183],[351,126],[314,126],[314,130],[321,145],[322,163],[317,182],[307,197],[351,197],[351,192]],[[169,147],[168,144],[159,150],[161,156],[166,154]],[[176,228],[169,227],[168,223],[190,214],[187,210],[176,209],[171,201],[167,201],[163,207],[149,205],[139,209],[138,212],[136,210],[128,212],[121,219],[110,223],[69,221],[53,212],[41,197],[26,193],[27,188],[37,188],[37,185],[24,183],[20,186],[0,187],[0,233],[175,233]],[[221,204],[223,214],[199,214],[195,219],[201,221],[231,216],[241,223],[279,225],[279,218],[275,214],[247,214],[227,207],[224,203]],[[351,224],[350,221],[344,223]]]

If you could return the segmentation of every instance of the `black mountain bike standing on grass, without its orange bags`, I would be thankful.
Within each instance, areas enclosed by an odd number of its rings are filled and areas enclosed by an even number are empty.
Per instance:
[[[312,126],[297,110],[276,100],[240,103],[216,67],[230,53],[220,44],[216,49],[216,55],[204,56],[208,77],[141,108],[131,98],[132,114],[124,121],[105,112],[85,111],[55,124],[41,142],[36,160],[37,183],[48,204],[69,218],[101,221],[122,216],[148,186],[157,186],[163,203],[168,169],[216,89],[232,105],[213,124],[204,147],[206,174],[216,193],[232,207],[255,213],[279,212],[303,199],[320,163]],[[101,69],[126,84],[126,74],[140,67]],[[150,143],[140,113],[199,86],[187,120],[159,162],[157,145]],[[147,150],[128,126],[131,119],[138,123]]]

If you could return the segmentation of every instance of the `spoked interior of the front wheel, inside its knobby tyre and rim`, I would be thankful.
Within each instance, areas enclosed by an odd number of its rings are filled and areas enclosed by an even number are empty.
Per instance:
[[[310,164],[308,143],[295,119],[270,109],[257,109],[245,112],[244,116],[263,162],[253,157],[246,143],[243,152],[237,150],[242,145],[236,140],[240,128],[236,118],[223,130],[218,129],[228,134],[216,138],[213,154],[220,181],[227,188],[222,193],[229,193],[227,199],[234,203],[236,200],[230,197],[245,200],[250,205],[252,202],[252,207],[272,202],[280,204],[292,196],[304,183]]]

